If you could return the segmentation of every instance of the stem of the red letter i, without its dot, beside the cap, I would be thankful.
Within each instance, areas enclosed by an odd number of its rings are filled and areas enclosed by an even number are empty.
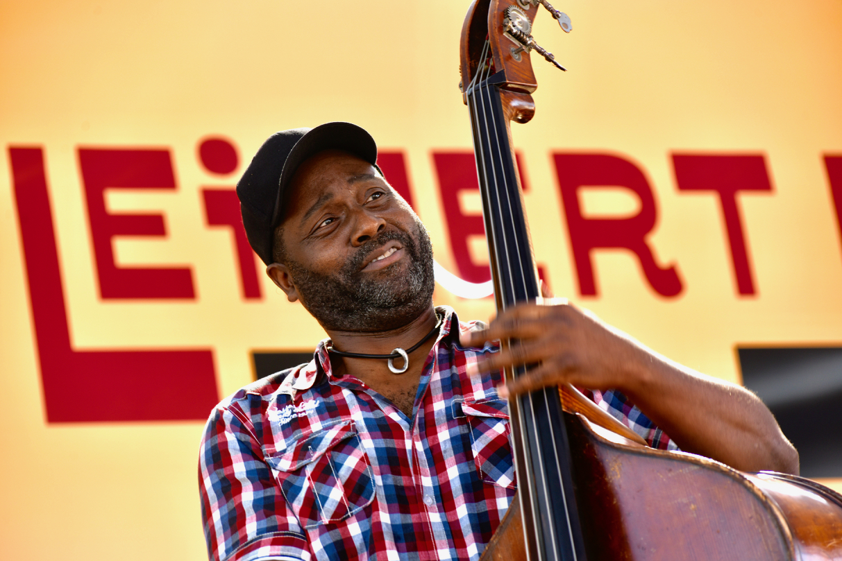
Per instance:
[[[205,198],[205,218],[208,225],[228,226],[234,235],[237,262],[240,265],[242,295],[247,299],[260,298],[260,283],[254,264],[254,251],[248,245],[246,229],[242,227],[240,199],[234,189],[202,189]]]

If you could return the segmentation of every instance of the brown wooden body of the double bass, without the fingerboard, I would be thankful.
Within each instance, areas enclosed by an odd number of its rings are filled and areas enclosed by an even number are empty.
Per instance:
[[[565,415],[589,561],[842,559],[842,495],[833,490],[643,447]],[[515,500],[481,561],[519,561],[525,551]]]

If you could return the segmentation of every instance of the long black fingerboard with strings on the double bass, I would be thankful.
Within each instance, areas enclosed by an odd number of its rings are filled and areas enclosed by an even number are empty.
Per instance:
[[[485,57],[483,54],[483,61]],[[494,294],[502,311],[519,302],[534,301],[541,293],[499,92],[502,76],[490,75],[490,66],[478,71],[466,87],[466,99]],[[517,377],[528,368],[515,368],[504,375]],[[557,388],[509,400],[509,416],[530,561],[584,561],[568,435]]]

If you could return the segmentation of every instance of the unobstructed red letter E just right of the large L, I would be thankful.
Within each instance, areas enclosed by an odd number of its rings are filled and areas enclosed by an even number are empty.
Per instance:
[[[174,189],[173,164],[167,150],[79,149],[99,294],[110,298],[195,298],[188,268],[117,267],[113,236],[166,236],[160,214],[109,214],[107,188]]]

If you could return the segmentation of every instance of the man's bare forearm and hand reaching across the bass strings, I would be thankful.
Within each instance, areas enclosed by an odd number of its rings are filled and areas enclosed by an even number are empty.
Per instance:
[[[520,341],[478,364],[473,373],[539,364],[501,394],[563,382],[619,389],[686,452],[743,471],[798,473],[798,453],[756,395],[674,363],[564,299],[514,306],[487,330],[463,338],[466,345]]]

